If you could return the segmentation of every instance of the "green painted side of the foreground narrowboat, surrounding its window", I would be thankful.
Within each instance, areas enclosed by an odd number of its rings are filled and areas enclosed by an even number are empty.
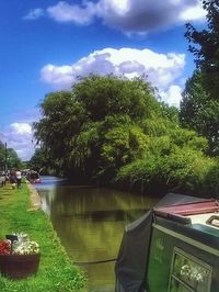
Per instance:
[[[175,228],[174,228],[175,229]],[[172,229],[173,231],[173,229]],[[215,255],[209,254],[207,250],[200,249],[194,245],[191,245],[188,242],[184,242],[181,238],[173,237],[170,234],[166,234],[160,229],[153,227],[152,237],[151,237],[151,247],[150,247],[150,256],[149,262],[147,267],[146,274],[146,289],[148,292],[168,292],[169,291],[169,282],[171,276],[171,267],[173,261],[173,255],[175,249],[183,250],[188,258],[195,258],[194,262],[200,262],[201,267],[210,267],[207,270],[210,271],[212,268],[212,272],[208,282],[208,289],[201,287],[199,284],[199,290],[194,290],[194,287],[189,283],[186,283],[187,287],[183,285],[183,282],[177,282],[177,289],[174,290],[174,281],[176,281],[176,276],[172,276],[172,285],[170,287],[171,292],[183,292],[183,291],[201,291],[207,292],[218,292],[218,271],[219,271],[219,258]],[[195,267],[195,266],[194,266]],[[198,268],[199,269],[199,268]],[[195,268],[193,268],[195,270]],[[203,270],[200,269],[201,274]],[[206,278],[207,279],[207,278]],[[182,280],[182,279],[181,279]],[[201,290],[204,288],[204,290]]]

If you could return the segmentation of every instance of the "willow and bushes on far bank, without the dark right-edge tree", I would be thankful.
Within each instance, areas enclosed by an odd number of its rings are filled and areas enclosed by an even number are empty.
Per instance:
[[[206,191],[200,186],[216,167],[206,138],[181,128],[177,109],[159,102],[143,79],[92,75],[47,94],[41,109],[34,158],[76,183]]]

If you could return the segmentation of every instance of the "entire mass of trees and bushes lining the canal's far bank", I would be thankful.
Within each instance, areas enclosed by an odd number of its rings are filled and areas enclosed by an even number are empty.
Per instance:
[[[219,9],[204,1],[208,27],[186,24],[197,68],[181,108],[159,102],[143,78],[90,75],[51,92],[34,124],[38,168],[76,183],[113,184],[148,193],[219,191]]]

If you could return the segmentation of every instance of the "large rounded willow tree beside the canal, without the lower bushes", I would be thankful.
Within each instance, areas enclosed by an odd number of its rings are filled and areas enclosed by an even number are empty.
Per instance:
[[[138,139],[145,134],[137,128],[162,112],[145,80],[93,75],[81,79],[71,92],[46,96],[41,109],[35,137],[49,159],[68,176],[87,179],[110,179],[140,155],[136,144],[141,144]]]

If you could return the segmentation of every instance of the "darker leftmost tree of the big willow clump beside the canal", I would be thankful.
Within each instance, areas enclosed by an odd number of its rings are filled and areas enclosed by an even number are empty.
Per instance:
[[[51,168],[55,166],[57,172],[68,170],[71,139],[79,133],[81,121],[85,122],[83,109],[72,92],[60,91],[47,94],[41,111],[43,119],[34,123],[36,141],[46,151]]]

